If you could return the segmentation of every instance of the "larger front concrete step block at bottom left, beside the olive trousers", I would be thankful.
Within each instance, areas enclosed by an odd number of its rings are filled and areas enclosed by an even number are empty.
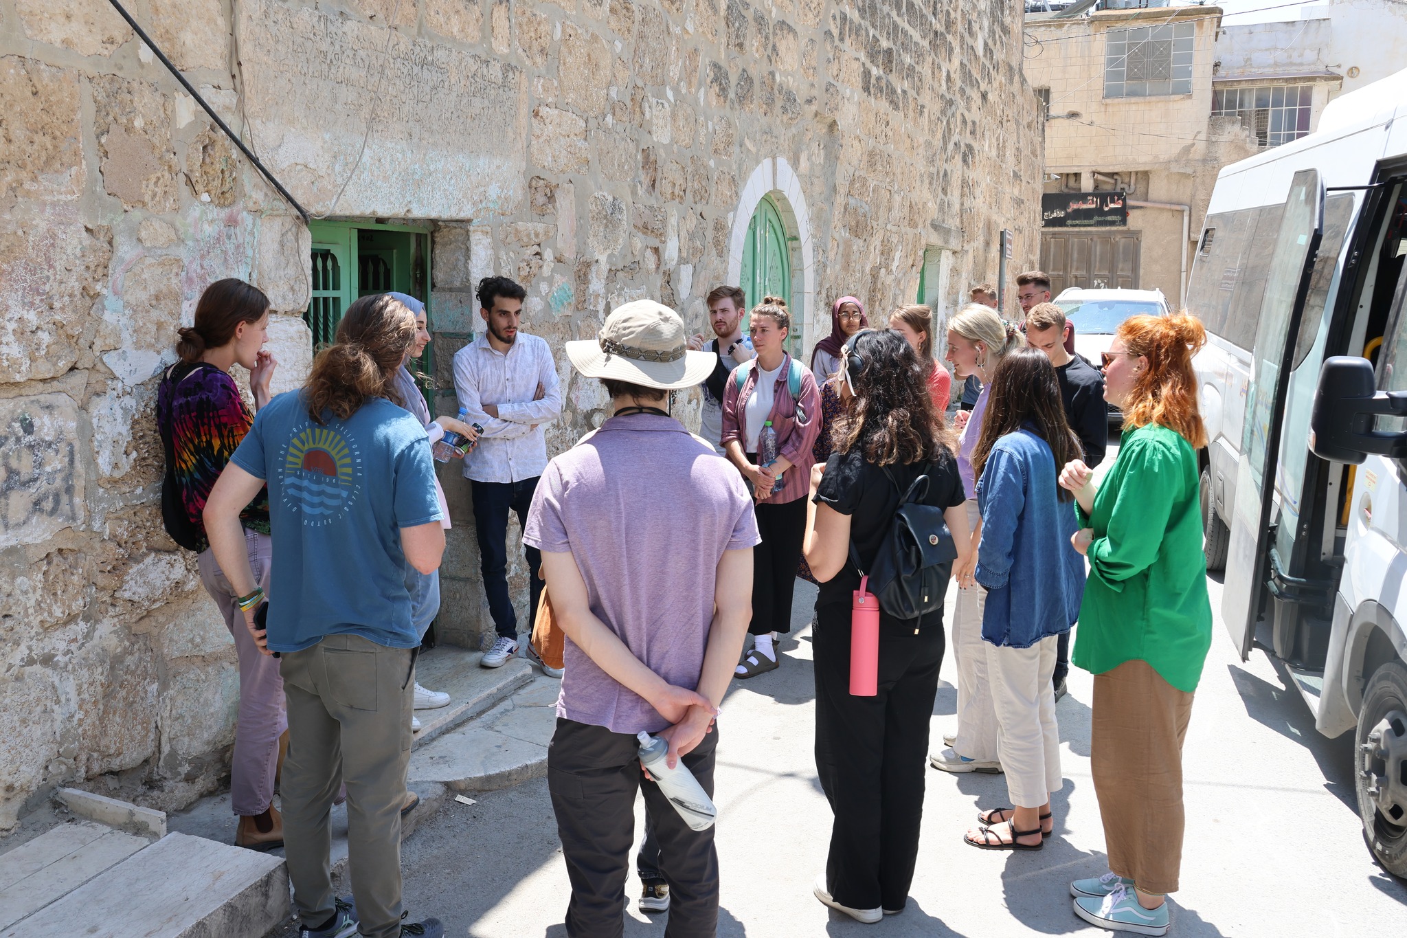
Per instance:
[[[176,833],[7,925],[0,938],[260,938],[287,917],[280,858]]]

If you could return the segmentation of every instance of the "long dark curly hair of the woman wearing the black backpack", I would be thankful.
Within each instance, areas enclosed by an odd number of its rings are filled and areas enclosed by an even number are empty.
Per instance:
[[[957,437],[933,406],[923,363],[893,329],[870,329],[855,338],[864,363],[853,394],[836,420],[837,453],[860,449],[875,465],[931,463],[957,451]],[[844,381],[844,370],[839,378]]]

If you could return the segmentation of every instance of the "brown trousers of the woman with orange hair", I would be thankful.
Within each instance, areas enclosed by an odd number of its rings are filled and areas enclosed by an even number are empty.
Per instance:
[[[1176,892],[1182,865],[1182,740],[1192,695],[1147,661],[1095,675],[1090,769],[1109,869],[1145,893]]]

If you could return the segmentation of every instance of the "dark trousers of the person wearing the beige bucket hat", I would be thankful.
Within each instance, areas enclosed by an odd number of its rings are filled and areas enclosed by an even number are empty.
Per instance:
[[[718,727],[713,727],[682,759],[711,797],[716,750]],[[642,773],[639,751],[640,744],[628,733],[557,717],[547,748],[547,792],[571,880],[567,935],[623,934],[635,793],[640,790],[658,844],[658,873],[670,886],[666,938],[713,938],[719,893],[713,828],[689,830],[660,786]]]

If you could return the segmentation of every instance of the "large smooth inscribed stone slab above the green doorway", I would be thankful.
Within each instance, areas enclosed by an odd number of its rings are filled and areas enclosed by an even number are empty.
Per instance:
[[[339,215],[516,210],[529,111],[521,69],[277,0],[242,3],[239,15],[255,139],[308,208],[331,210],[346,183]]]

